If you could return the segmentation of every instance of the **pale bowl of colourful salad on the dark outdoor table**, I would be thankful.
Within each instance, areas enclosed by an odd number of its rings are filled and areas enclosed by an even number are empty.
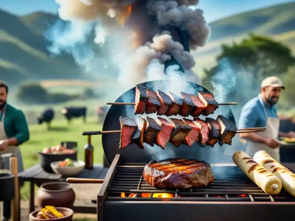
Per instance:
[[[85,162],[66,158],[63,161],[52,162],[50,166],[56,174],[69,177],[78,175],[84,169]]]

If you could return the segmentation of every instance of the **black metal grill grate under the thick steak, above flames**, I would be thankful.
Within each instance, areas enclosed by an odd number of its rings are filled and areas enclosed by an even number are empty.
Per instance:
[[[241,172],[212,167],[214,182],[198,189],[158,190],[145,182],[143,166],[118,166],[107,191],[106,200],[121,201],[231,201],[231,202],[291,202],[294,197],[282,190],[276,196],[263,192]],[[215,172],[214,172],[215,170]],[[224,175],[226,171],[227,175]],[[161,196],[159,196],[159,194]],[[169,194],[169,195],[167,195]],[[125,197],[122,197],[124,196]],[[129,197],[130,196],[130,197]]]

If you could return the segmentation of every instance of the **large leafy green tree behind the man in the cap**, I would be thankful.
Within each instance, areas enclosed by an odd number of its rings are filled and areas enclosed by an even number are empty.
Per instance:
[[[295,64],[291,50],[269,37],[249,34],[240,44],[222,45],[222,52],[217,56],[219,63],[227,58],[236,71],[250,72],[255,80],[286,73]],[[205,81],[210,81],[218,71],[218,65],[204,70]]]

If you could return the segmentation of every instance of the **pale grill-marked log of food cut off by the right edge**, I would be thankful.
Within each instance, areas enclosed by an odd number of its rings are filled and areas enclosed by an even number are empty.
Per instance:
[[[282,164],[278,163],[271,156],[269,156],[265,151],[258,151],[253,159],[263,166],[265,169],[273,173],[278,177],[281,182],[283,189],[295,197],[295,174],[289,169],[284,167]]]

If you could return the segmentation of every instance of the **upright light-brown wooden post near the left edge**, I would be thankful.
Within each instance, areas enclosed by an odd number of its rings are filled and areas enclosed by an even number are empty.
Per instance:
[[[10,171],[14,175],[14,199],[11,201],[12,221],[18,221],[19,212],[19,185],[18,185],[17,157],[10,157]]]

